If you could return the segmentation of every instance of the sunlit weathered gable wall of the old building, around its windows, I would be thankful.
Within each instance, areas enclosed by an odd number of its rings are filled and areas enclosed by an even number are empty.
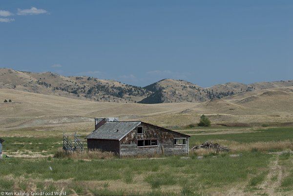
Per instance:
[[[150,126],[142,122],[143,134],[137,134],[136,129],[121,139],[121,156],[154,155],[162,153],[188,154],[188,137],[186,135],[173,132],[164,128]],[[137,147],[138,139],[158,139],[158,146]],[[174,145],[174,138],[186,138],[186,145]]]

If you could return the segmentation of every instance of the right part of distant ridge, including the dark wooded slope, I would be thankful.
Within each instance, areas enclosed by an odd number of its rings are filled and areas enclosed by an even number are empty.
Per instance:
[[[204,102],[212,98],[224,98],[243,92],[293,86],[293,80],[257,82],[252,84],[225,83],[203,88],[184,80],[163,79],[144,88],[154,92],[139,103]]]

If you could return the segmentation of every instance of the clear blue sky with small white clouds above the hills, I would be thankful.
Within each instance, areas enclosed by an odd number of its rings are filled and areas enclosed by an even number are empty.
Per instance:
[[[292,0],[1,0],[0,68],[146,86],[293,79]]]

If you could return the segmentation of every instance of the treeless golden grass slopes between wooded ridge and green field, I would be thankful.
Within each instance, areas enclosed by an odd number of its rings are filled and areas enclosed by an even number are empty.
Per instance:
[[[211,99],[204,103],[114,103],[94,102],[0,89],[0,128],[93,122],[94,117],[119,117],[120,121],[142,120],[158,126],[186,126],[199,121],[202,114],[216,123],[291,122],[293,88],[253,92],[250,99],[239,94],[230,99]],[[241,97],[242,96],[242,97]],[[239,99],[241,97],[241,99]],[[233,101],[235,100],[235,101]],[[1,131],[1,130],[0,130]]]

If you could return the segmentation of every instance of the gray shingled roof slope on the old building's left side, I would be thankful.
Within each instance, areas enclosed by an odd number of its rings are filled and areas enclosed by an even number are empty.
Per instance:
[[[135,129],[141,121],[136,122],[106,122],[100,128],[93,131],[85,139],[116,139],[121,140],[130,131]],[[117,132],[118,130],[118,132]]]

